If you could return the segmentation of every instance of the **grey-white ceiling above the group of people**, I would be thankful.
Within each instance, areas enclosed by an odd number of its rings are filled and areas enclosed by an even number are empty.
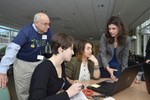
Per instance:
[[[150,0],[0,0],[0,23],[21,28],[41,10],[49,15],[54,33],[99,40],[112,15],[120,15],[129,29],[149,19]]]

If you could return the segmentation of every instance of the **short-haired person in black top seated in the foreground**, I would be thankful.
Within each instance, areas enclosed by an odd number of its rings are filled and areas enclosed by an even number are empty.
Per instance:
[[[64,33],[52,37],[52,57],[40,63],[32,75],[28,100],[70,100],[81,91],[82,84],[71,85],[65,75],[64,61],[74,54],[74,39]]]

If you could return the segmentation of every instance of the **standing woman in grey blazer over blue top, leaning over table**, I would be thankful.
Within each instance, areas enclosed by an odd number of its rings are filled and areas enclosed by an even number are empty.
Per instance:
[[[107,22],[106,33],[100,40],[101,77],[115,80],[128,67],[130,37],[126,26],[118,16],[112,16]]]

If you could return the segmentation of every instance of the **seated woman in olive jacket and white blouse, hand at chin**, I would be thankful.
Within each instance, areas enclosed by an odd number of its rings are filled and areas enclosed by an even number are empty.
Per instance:
[[[70,83],[100,78],[99,63],[93,53],[93,45],[88,40],[80,40],[76,46],[76,56],[67,62],[66,76]]]

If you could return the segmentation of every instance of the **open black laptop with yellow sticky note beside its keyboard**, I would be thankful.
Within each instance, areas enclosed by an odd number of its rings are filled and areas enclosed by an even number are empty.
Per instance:
[[[105,96],[112,96],[131,86],[141,65],[142,64],[138,64],[126,68],[122,72],[117,82],[105,80],[96,84],[92,84],[87,88]]]

